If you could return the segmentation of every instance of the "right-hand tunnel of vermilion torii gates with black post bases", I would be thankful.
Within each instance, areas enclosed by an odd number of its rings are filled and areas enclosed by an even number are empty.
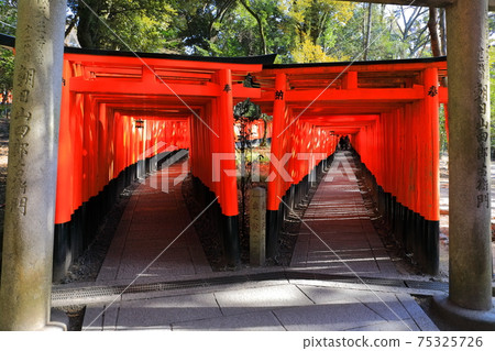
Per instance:
[[[284,174],[274,164],[271,169],[278,175],[267,193],[271,255],[287,205],[306,187],[311,169],[331,156],[336,135],[350,134],[398,239],[425,271],[437,273],[439,107],[448,101],[440,81],[446,75],[444,58],[264,66],[257,76],[263,94],[254,101],[274,116],[273,157],[290,155]],[[312,165],[298,160],[300,153],[314,154]],[[287,174],[294,177],[284,178]]]

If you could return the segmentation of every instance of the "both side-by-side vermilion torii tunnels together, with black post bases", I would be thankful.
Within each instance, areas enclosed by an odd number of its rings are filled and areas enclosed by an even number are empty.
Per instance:
[[[274,65],[274,56],[191,58],[66,50],[54,277],[94,239],[122,189],[189,150],[196,196],[239,263],[233,106],[250,98],[268,128],[267,253],[310,174],[350,135],[380,210],[425,271],[438,270],[439,107],[444,59]],[[254,77],[253,85],[244,84]],[[257,123],[258,138],[263,123]]]

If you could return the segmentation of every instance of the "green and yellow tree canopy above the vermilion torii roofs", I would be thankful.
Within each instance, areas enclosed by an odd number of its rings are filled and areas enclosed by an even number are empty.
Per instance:
[[[0,3],[14,34],[15,0]],[[208,56],[278,54],[282,63],[430,56],[426,8],[332,0],[68,0],[81,47]]]

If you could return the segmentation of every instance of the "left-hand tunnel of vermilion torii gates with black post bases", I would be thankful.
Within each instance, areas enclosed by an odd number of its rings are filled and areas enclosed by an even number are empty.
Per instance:
[[[66,48],[55,215],[55,276],[92,239],[124,186],[157,158],[190,151],[190,172],[218,197],[228,261],[239,261],[233,105],[274,55],[206,58]],[[218,161],[219,180],[212,178]],[[230,173],[229,173],[230,172]],[[213,197],[215,198],[215,197]]]

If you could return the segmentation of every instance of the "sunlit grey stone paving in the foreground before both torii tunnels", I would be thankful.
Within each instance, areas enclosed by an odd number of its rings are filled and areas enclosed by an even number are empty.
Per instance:
[[[84,330],[438,329],[408,294],[375,295],[362,287],[342,288],[322,282],[264,281],[147,298],[124,295],[111,306],[87,308]]]

